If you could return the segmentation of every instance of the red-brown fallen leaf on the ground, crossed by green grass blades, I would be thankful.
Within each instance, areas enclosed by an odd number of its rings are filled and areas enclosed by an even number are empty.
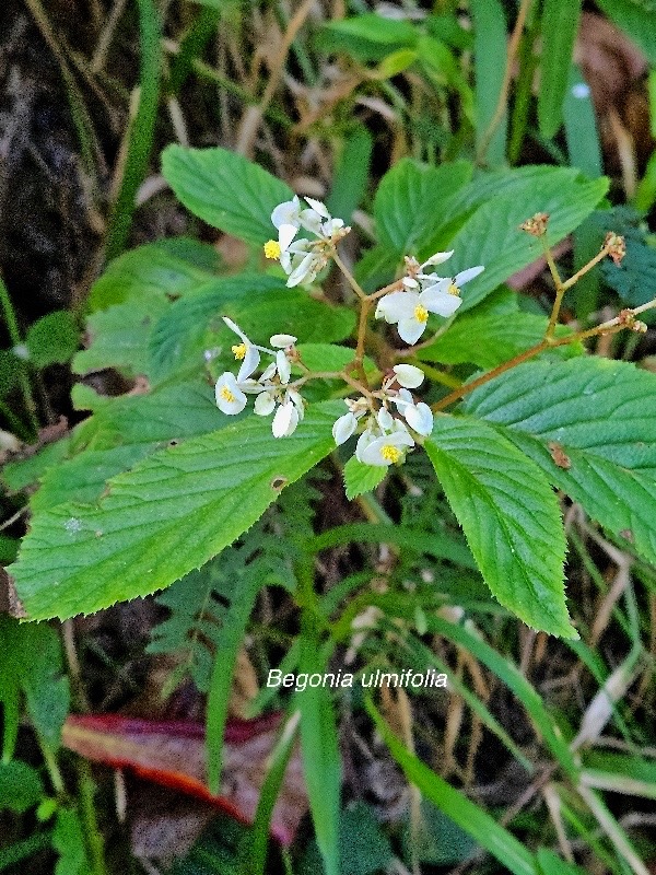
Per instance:
[[[119,714],[71,715],[62,744],[75,754],[115,769],[188,793],[222,808],[244,824],[253,822],[267,760],[281,715],[231,720],[225,728],[223,774],[219,796],[207,785],[204,726],[189,721],[149,721]],[[271,818],[271,835],[292,843],[307,810],[301,757],[290,758],[282,790]]]

